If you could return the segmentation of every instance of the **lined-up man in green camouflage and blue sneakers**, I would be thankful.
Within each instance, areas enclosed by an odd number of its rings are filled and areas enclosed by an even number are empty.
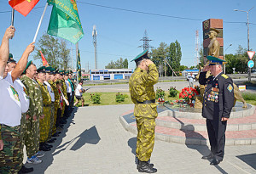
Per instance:
[[[37,74],[37,66],[29,61],[20,80],[26,87],[29,96],[29,108],[26,112],[26,133],[24,135],[24,143],[26,146],[27,162],[39,164],[42,160],[38,157],[44,156],[39,150],[39,119],[43,115],[42,93],[38,86],[38,82],[34,80]]]

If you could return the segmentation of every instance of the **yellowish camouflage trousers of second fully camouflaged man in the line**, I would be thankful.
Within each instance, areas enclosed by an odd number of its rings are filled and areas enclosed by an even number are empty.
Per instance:
[[[45,143],[47,141],[49,135],[49,121],[50,121],[50,114],[51,108],[49,106],[44,107],[43,110],[44,119],[40,119],[40,143]]]

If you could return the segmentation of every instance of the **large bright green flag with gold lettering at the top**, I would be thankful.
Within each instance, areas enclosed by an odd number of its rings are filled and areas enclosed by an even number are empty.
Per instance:
[[[47,2],[53,6],[47,33],[60,36],[74,44],[78,42],[84,36],[84,31],[76,0],[47,0]]]

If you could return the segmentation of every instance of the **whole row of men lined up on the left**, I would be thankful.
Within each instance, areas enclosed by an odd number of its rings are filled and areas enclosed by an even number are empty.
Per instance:
[[[9,26],[0,47],[0,173],[32,172],[33,168],[22,163],[24,145],[26,161],[41,163],[39,158],[53,147],[49,143],[59,137],[73,111],[72,72],[44,66],[37,69],[32,61],[27,62],[33,42],[17,64],[9,53],[9,39],[14,34],[15,27]],[[15,104],[15,109],[5,107],[4,102]],[[6,113],[14,115],[13,120],[5,121]]]

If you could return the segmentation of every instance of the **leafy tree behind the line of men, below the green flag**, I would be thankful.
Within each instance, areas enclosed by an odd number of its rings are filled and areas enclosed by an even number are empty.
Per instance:
[[[65,40],[44,33],[38,41],[34,59],[42,59],[39,51],[44,54],[45,59],[53,68],[67,70],[70,67],[70,50]]]

